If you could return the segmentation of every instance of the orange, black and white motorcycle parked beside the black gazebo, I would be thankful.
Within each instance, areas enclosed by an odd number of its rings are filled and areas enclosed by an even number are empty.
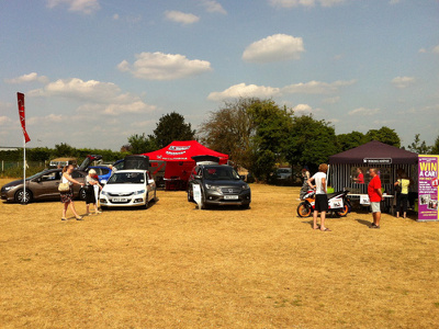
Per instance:
[[[328,212],[337,216],[345,217],[348,215],[349,209],[352,207],[348,198],[348,190],[327,194],[328,196]],[[315,191],[308,191],[297,206],[299,217],[309,217],[314,212],[315,206]]]

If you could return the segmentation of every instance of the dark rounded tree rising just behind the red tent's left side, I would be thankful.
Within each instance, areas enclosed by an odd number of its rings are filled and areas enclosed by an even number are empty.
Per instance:
[[[195,139],[195,131],[192,131],[191,124],[184,122],[184,116],[177,112],[166,114],[160,117],[153,136],[158,148],[164,148],[173,140]]]

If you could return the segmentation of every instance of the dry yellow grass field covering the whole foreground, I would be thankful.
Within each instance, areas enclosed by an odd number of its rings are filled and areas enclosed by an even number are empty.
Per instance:
[[[351,213],[314,231],[299,189],[251,189],[249,211],[159,191],[85,222],[0,203],[1,328],[437,328],[438,223]]]

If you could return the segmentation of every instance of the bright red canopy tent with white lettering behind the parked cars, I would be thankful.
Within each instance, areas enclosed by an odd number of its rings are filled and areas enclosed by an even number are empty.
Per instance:
[[[214,151],[196,140],[172,141],[167,147],[144,154],[149,161],[166,161],[165,180],[180,180],[187,182],[191,170],[195,167],[193,156],[214,156],[219,158],[219,164],[227,163],[228,156]]]

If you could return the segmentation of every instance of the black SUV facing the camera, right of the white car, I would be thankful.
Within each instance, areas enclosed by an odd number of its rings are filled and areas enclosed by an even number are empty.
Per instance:
[[[241,208],[250,206],[250,188],[230,166],[195,166],[188,182],[189,202],[194,202],[192,188],[194,184],[201,188],[202,209],[210,205],[239,205]]]

